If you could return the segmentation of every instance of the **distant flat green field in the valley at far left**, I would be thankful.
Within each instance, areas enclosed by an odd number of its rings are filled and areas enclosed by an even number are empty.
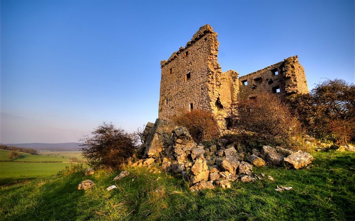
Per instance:
[[[84,161],[79,151],[41,151],[42,155],[20,153],[20,158],[9,162],[10,152],[0,150],[0,185],[55,175],[70,166],[69,158]]]

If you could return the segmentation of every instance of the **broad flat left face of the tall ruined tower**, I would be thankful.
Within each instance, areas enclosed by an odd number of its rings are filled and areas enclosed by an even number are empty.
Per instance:
[[[209,104],[210,77],[219,65],[210,62],[214,57],[217,33],[209,25],[199,31],[187,43],[174,52],[167,61],[161,62],[159,118],[169,120],[180,108],[202,108],[211,111]],[[218,47],[218,46],[217,46]]]

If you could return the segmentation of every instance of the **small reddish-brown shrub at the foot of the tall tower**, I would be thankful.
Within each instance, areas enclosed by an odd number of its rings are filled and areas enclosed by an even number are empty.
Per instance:
[[[186,127],[196,143],[219,137],[220,131],[215,117],[208,111],[195,109],[181,111],[171,118],[172,122]]]

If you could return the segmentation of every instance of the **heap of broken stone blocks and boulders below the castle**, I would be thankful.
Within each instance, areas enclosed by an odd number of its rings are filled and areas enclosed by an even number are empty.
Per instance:
[[[253,167],[264,165],[288,166],[300,169],[313,160],[305,152],[263,146],[254,149],[246,157],[236,151],[236,144],[225,147],[196,144],[185,127],[157,119],[148,123],[143,136],[144,143],[136,153],[140,158],[132,166],[150,166],[161,163],[162,169],[181,173],[190,182],[190,189],[214,189],[215,186],[230,188],[231,182],[254,182],[256,179],[270,179],[265,174],[255,174]],[[244,161],[242,159],[245,159]]]

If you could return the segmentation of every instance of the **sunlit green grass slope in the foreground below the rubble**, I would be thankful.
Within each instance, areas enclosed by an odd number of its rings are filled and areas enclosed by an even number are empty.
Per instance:
[[[316,160],[306,169],[257,168],[275,182],[234,183],[228,190],[191,193],[180,176],[151,168],[127,168],[131,175],[117,182],[118,172],[99,170],[0,187],[0,219],[353,220],[355,153],[312,154]],[[86,179],[96,186],[78,191]],[[105,190],[114,184],[117,189]],[[279,193],[277,185],[293,190]]]

